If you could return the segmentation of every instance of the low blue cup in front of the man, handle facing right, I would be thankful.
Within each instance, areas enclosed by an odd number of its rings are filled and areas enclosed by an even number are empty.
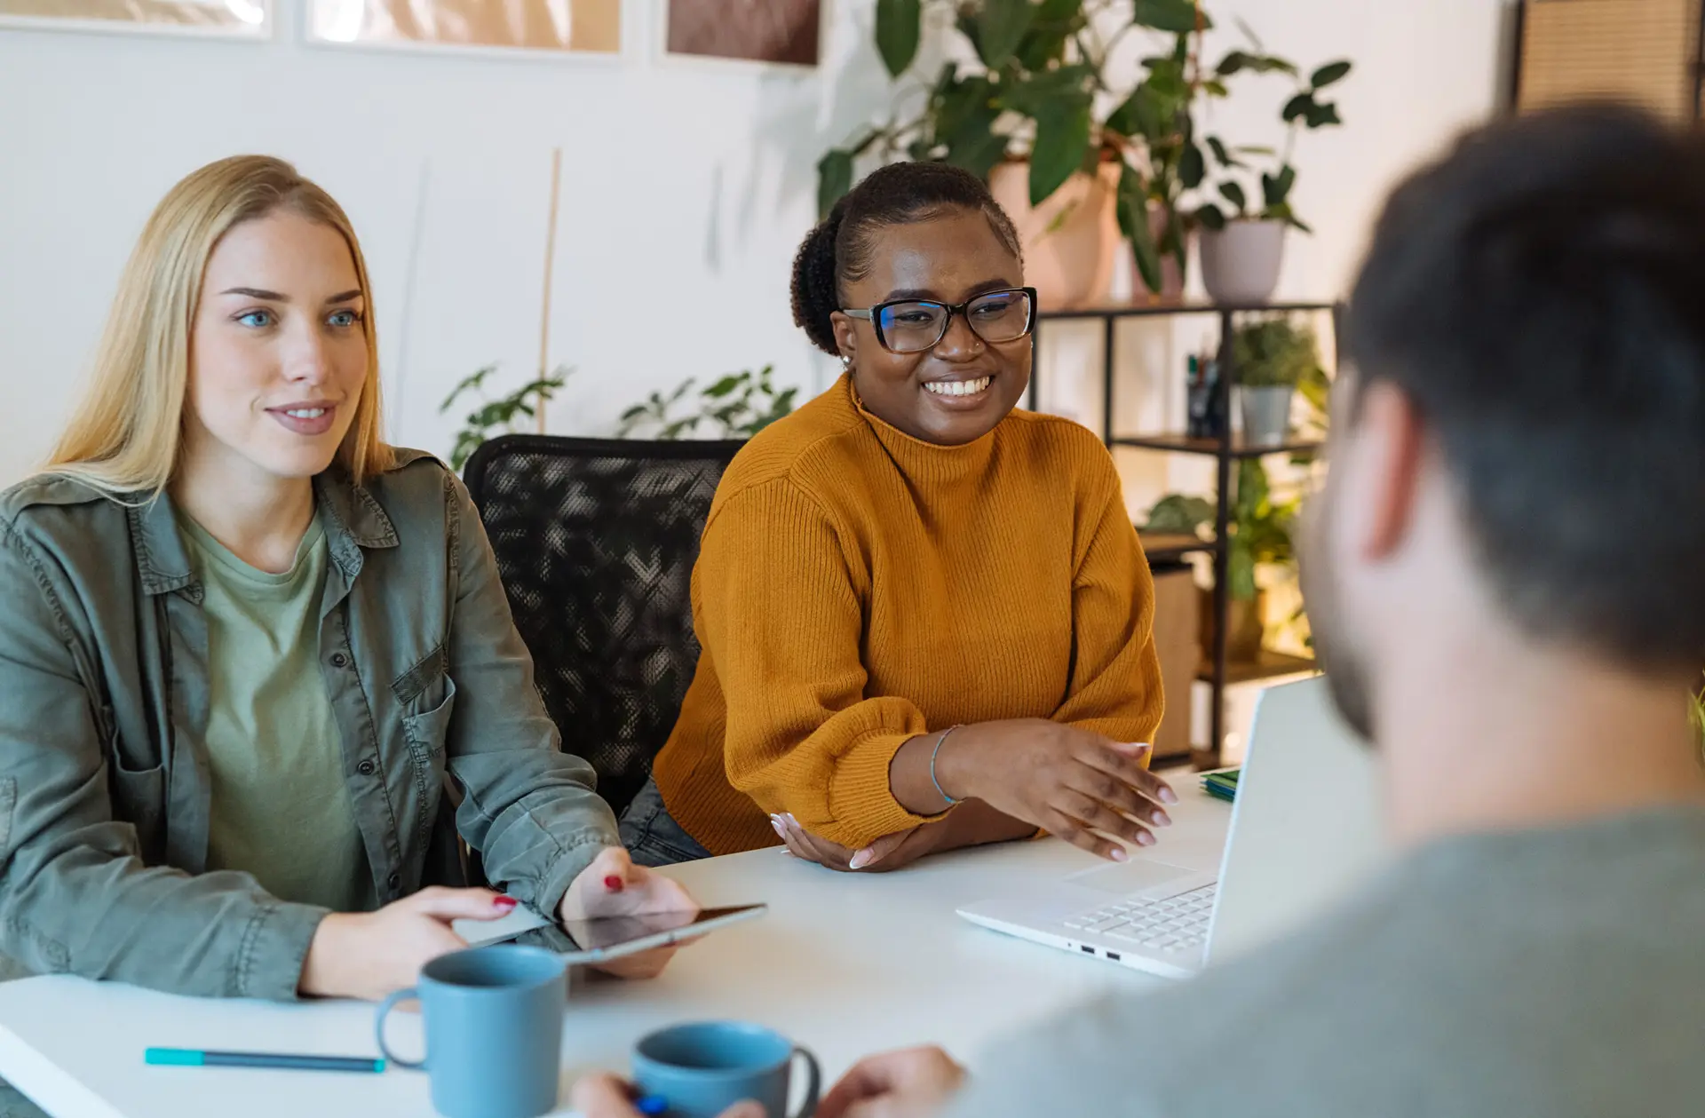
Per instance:
[[[817,1057],[757,1024],[704,1021],[651,1033],[634,1045],[634,1084],[667,1118],[718,1118],[752,1099],[766,1118],[788,1118],[795,1060],[805,1062],[805,1103],[817,1109],[822,1072]]]

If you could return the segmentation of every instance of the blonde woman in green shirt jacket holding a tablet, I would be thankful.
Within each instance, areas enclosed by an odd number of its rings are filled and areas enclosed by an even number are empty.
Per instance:
[[[350,220],[288,164],[203,167],[148,220],[82,406],[0,496],[24,970],[375,999],[452,919],[692,905],[559,752],[460,482],[382,441],[377,353]],[[503,895],[436,885],[457,833]]]

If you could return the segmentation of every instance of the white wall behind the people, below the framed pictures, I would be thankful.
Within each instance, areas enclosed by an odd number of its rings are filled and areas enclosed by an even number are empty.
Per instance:
[[[788,269],[817,157],[890,97],[870,0],[830,0],[815,73],[658,61],[653,0],[626,0],[621,60],[309,46],[302,0],[275,3],[266,44],[0,29],[0,484],[63,423],[152,205],[244,150],[295,160],[351,211],[399,441],[447,450],[454,423],[436,406],[472,368],[532,373],[554,145],[552,361],[580,368],[554,431],[609,431],[622,406],[687,375],[767,361],[808,389],[830,375],[791,326]],[[1214,7],[1299,61],[1357,63],[1340,90],[1349,126],[1301,152],[1296,201],[1318,233],[1292,242],[1284,278],[1286,293],[1333,297],[1393,177],[1490,107],[1499,0]],[[1251,126],[1228,111],[1226,131],[1253,138],[1277,102],[1234,111]],[[1132,407],[1173,407],[1182,356],[1141,337],[1125,349]],[[1061,406],[1083,412],[1083,341],[1061,331],[1043,358]]]

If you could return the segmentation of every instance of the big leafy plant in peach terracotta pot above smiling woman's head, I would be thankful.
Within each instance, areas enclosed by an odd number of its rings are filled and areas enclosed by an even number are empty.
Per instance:
[[[929,7],[951,12],[951,34],[975,63],[950,60],[933,75],[914,72]],[[1125,107],[1134,94],[1115,87],[1108,75],[1124,66],[1110,60],[1142,39],[1129,37],[1132,31],[1183,41],[1212,26],[1195,0],[1134,0],[1118,24],[1105,12],[1103,0],[876,0],[876,49],[888,73],[907,82],[902,111],[824,155],[818,210],[827,213],[851,189],[859,157],[965,167],[989,179],[1011,213],[1045,305],[1101,298],[1118,244],[1122,184],[1142,150],[1132,135],[1134,109]],[[1117,106],[1110,116],[1118,124],[1098,118],[1098,106]],[[1176,130],[1175,107],[1161,106],[1168,135]]]

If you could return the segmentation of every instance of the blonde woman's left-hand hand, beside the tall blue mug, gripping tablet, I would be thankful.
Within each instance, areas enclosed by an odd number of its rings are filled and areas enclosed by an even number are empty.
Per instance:
[[[496,920],[515,910],[513,896],[491,890],[425,888],[379,912],[334,912],[314,931],[302,961],[305,997],[379,1000],[414,985],[421,966],[467,946],[450,920]]]

